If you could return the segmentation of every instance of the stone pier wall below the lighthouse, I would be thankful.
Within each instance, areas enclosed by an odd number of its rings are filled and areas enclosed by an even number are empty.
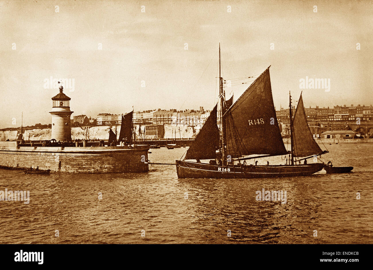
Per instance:
[[[148,147],[17,147],[0,142],[0,165],[55,172],[147,172]]]

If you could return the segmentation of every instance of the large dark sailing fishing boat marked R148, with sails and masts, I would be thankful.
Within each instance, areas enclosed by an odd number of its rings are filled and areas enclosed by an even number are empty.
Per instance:
[[[294,164],[294,157],[309,159],[322,151],[314,141],[300,101],[292,119],[290,98],[291,151],[283,143],[276,111],[273,104],[269,67],[249,86],[232,105],[233,99],[225,100],[223,78],[220,72],[219,45],[219,125],[215,105],[194,142],[186,152],[184,160],[176,160],[179,178],[258,178],[294,177],[311,175],[323,169],[323,163]],[[218,151],[217,151],[218,150]],[[233,165],[234,160],[289,154],[285,165]],[[260,155],[243,157],[248,155]],[[216,163],[215,159],[219,162]],[[189,161],[195,159],[196,162]],[[213,159],[209,163],[200,160]],[[302,160],[303,160],[302,159]],[[298,160],[299,161],[299,160]],[[245,162],[244,162],[245,163]]]

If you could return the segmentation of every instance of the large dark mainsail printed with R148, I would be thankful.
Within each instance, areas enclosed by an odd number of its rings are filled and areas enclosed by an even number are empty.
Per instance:
[[[275,106],[269,67],[225,113],[226,152],[232,157],[286,154]]]

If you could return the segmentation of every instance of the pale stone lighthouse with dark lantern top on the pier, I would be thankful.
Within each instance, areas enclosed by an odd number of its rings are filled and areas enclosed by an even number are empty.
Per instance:
[[[57,141],[71,141],[70,99],[63,93],[63,87],[60,86],[60,92],[53,96],[53,108],[49,113],[52,115],[52,138]]]

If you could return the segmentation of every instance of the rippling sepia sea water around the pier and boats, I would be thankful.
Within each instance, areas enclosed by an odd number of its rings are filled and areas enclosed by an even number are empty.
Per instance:
[[[30,191],[29,204],[0,201],[0,243],[373,243],[373,144],[326,147],[324,162],[353,173],[212,180],[178,179],[173,165],[145,174],[0,170],[0,190]],[[185,150],[152,149],[149,159],[175,162]],[[257,201],[262,188],[286,190],[286,204]]]

